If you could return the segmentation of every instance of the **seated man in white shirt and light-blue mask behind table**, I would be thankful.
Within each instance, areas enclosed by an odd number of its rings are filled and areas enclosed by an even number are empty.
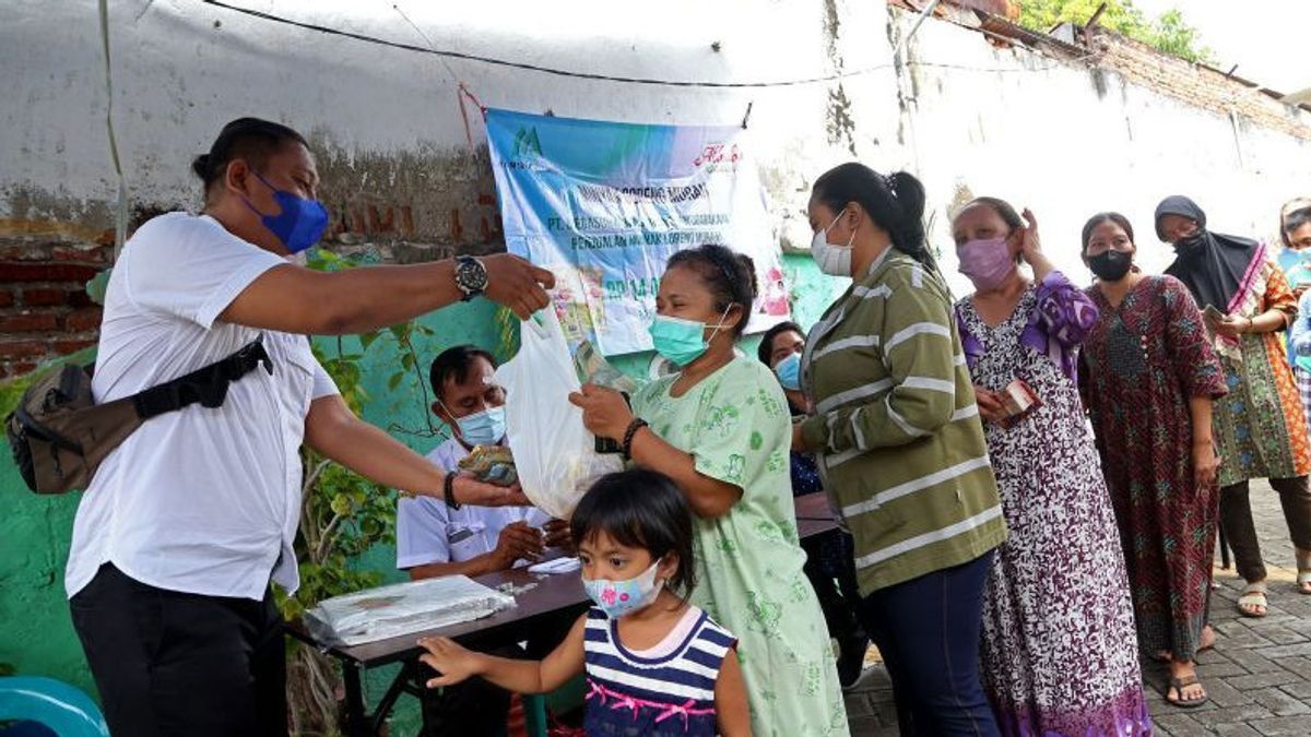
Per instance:
[[[475,447],[505,442],[505,389],[496,386],[494,372],[492,354],[471,345],[447,349],[433,361],[433,413],[451,428],[451,439],[427,455],[438,467],[456,471]],[[413,580],[506,570],[539,560],[551,547],[572,548],[569,525],[532,506],[451,508],[439,498],[404,496],[397,502],[396,567]],[[528,643],[528,657],[544,657],[564,635],[547,629],[540,644],[538,637]],[[510,648],[498,654],[524,653]],[[497,734],[509,708],[510,694],[480,679],[427,691],[423,734]]]

